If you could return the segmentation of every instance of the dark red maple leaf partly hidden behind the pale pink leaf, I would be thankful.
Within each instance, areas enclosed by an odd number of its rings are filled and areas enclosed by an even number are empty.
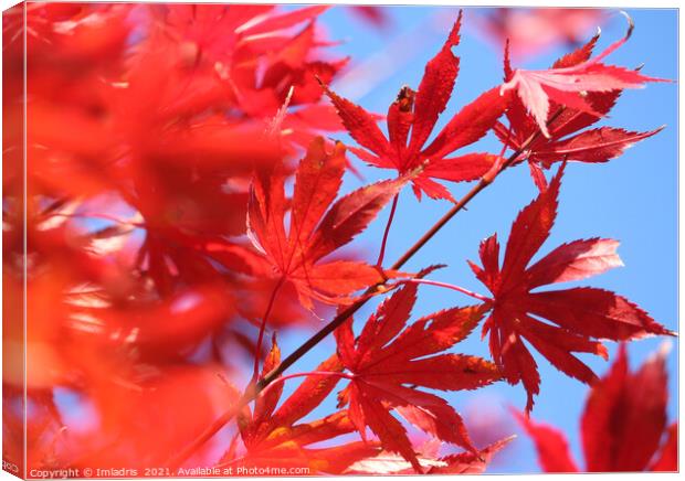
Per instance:
[[[599,33],[584,45],[559,58],[554,64],[552,70],[572,67],[587,62],[598,40]],[[510,82],[514,75],[509,65],[508,46],[509,44],[507,43],[504,61],[505,82]],[[625,149],[632,147],[635,142],[651,137],[663,129],[661,127],[646,132],[635,132],[614,127],[600,127],[573,135],[590,127],[609,114],[621,92],[620,89],[587,92],[583,98],[591,106],[593,113],[571,106],[562,107],[558,103],[550,100],[546,122],[549,137],[538,136],[527,145],[527,140],[538,131],[538,124],[533,115],[527,111],[526,105],[524,105],[521,99],[513,97],[510,106],[506,111],[509,128],[498,121],[494,127],[495,133],[503,143],[514,150],[521,151],[515,162],[527,159],[533,179],[544,190],[547,182],[539,165],[549,169],[554,162],[562,160],[607,162],[621,156]]]

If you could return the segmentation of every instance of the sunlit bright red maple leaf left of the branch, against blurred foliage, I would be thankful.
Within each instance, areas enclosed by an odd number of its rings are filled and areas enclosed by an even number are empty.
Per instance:
[[[247,213],[249,235],[275,269],[274,276],[293,282],[303,306],[312,298],[328,303],[383,280],[376,267],[355,260],[319,261],[363,231],[400,190],[404,180],[378,182],[345,195],[335,204],[345,173],[345,148],[326,152],[324,139],[309,146],[295,173],[291,222],[286,234],[285,172],[255,174]]]

